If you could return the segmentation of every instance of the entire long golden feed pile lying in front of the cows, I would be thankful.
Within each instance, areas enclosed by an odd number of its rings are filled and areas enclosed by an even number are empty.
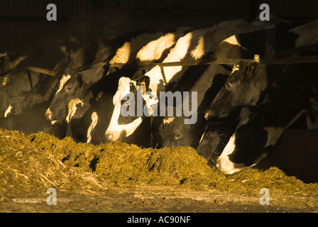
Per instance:
[[[60,191],[99,193],[107,185],[161,185],[218,190],[255,196],[271,193],[318,195],[318,184],[305,184],[277,167],[248,169],[224,176],[190,147],[141,149],[114,142],[102,145],[60,140],[45,133],[0,130],[0,199]]]

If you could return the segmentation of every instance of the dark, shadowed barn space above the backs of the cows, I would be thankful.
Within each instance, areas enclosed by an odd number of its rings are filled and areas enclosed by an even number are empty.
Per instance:
[[[46,19],[50,3],[57,6],[57,21]],[[252,19],[262,3],[276,16],[318,17],[317,0],[0,0],[0,52],[29,52],[68,35],[90,38]]]

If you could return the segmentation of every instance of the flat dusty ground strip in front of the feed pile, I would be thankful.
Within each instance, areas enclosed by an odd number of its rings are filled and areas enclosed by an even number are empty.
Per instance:
[[[58,193],[58,192],[57,192]],[[46,196],[24,198],[17,196],[2,201],[0,212],[89,212],[89,213],[282,213],[317,212],[312,206],[317,196],[306,194],[276,194],[270,196],[275,203],[269,206],[259,204],[260,196],[240,193],[194,191],[175,187],[115,187],[104,193],[70,194],[60,197],[57,205],[48,206]],[[288,204],[297,200],[300,204]],[[280,205],[280,202],[282,204]]]

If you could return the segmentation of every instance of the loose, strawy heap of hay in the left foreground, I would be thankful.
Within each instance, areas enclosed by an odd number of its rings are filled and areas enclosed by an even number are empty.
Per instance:
[[[48,196],[47,189],[70,193],[105,189],[89,172],[67,167],[34,146],[23,133],[0,130],[0,201],[16,196]]]

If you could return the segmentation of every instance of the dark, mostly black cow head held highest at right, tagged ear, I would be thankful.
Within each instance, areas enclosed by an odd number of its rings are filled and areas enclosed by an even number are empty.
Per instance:
[[[239,61],[204,117],[207,121],[219,121],[231,116],[238,107],[254,106],[267,86],[265,65]]]

